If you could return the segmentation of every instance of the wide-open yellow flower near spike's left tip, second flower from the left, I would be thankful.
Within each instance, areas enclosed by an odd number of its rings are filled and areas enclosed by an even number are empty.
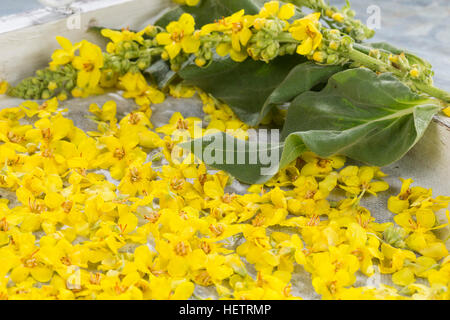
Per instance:
[[[97,87],[102,73],[103,53],[100,47],[87,41],[82,41],[80,56],[73,59],[75,69],[78,70],[77,86],[81,89],[94,89]]]

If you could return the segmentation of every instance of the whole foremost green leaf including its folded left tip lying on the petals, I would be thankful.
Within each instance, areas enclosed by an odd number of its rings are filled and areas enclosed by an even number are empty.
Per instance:
[[[400,159],[414,146],[438,110],[433,101],[413,93],[390,74],[378,76],[368,69],[351,69],[332,76],[322,91],[305,92],[292,102],[283,130],[285,139],[280,143],[239,144],[235,138],[218,133],[214,137],[222,136],[222,145],[211,146],[211,136],[207,136],[181,147],[200,158],[207,148],[214,149],[217,159],[231,160],[244,155],[249,159],[256,152],[270,150],[279,155],[276,169],[307,149],[322,157],[341,154],[383,166]],[[262,162],[239,164],[209,159],[205,163],[246,183],[265,182],[277,171],[263,174],[261,169],[268,165]]]

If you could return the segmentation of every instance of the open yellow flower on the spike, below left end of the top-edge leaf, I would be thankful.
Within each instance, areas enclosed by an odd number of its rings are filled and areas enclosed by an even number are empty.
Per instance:
[[[200,48],[200,40],[194,35],[195,21],[190,14],[182,14],[178,21],[169,23],[166,30],[156,36],[156,41],[164,46],[170,59],[178,56],[181,49],[185,53],[195,53]]]

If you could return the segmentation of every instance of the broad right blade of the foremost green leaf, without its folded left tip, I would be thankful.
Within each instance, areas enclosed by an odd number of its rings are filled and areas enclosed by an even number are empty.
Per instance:
[[[384,166],[416,144],[439,109],[391,74],[351,69],[332,76],[321,92],[298,96],[282,136],[297,135],[322,157]]]

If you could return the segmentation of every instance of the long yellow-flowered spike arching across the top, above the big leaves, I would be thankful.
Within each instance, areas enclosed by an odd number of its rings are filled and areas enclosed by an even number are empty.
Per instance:
[[[267,63],[278,56],[297,53],[318,64],[350,63],[352,67],[362,66],[376,72],[391,72],[415,90],[444,101],[450,100],[448,93],[432,86],[431,65],[423,59],[409,53],[359,45],[354,38],[340,30],[323,27],[319,22],[319,12],[290,23],[294,14],[295,7],[292,4],[280,7],[278,1],[271,1],[257,15],[245,15],[244,10],[241,10],[205,25],[200,30],[195,29],[195,20],[189,14],[183,14],[178,21],[172,21],[166,28],[149,26],[138,33],[105,29],[102,34],[112,42],[108,44],[108,53],[103,54],[103,59],[84,57],[88,62],[81,66],[77,64],[77,70],[74,70],[75,60],[78,59],[75,57],[72,64],[66,64],[57,70],[67,69],[68,75],[64,71],[61,77],[66,79],[64,76],[69,76],[69,84],[65,84],[69,90],[74,86],[74,74],[79,84],[83,68],[92,69],[94,62],[100,59],[96,65],[102,79],[97,83],[100,82],[100,87],[112,87],[117,82],[114,79],[129,72],[143,72],[154,59],[159,58],[170,61],[172,69],[178,71],[191,56],[195,56],[195,63],[203,67],[212,61],[214,53],[229,55],[237,62],[251,57]],[[88,44],[79,44],[81,47],[83,45]],[[39,71],[35,78],[20,84],[14,93],[22,97],[50,97],[55,93],[55,88],[61,87],[62,81],[53,77],[53,74],[58,74],[54,68]],[[95,93],[95,90],[91,91]],[[86,92],[75,88],[72,94],[84,96]]]

